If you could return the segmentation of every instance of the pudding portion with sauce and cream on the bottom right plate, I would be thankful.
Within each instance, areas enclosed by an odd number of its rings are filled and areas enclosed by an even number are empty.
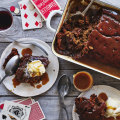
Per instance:
[[[120,101],[105,93],[92,94],[90,99],[75,99],[75,112],[80,120],[120,120]]]

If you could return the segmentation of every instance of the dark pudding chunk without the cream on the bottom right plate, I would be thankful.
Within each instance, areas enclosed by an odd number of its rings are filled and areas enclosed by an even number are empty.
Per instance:
[[[106,104],[100,100],[95,94],[90,99],[80,97],[75,99],[76,113],[80,120],[103,120]]]

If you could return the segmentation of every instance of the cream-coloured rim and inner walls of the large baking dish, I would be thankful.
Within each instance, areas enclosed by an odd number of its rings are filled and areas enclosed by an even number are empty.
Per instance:
[[[59,23],[59,26],[58,26],[58,29],[57,29],[57,32],[56,34],[60,31],[61,29],[61,26],[63,25],[63,23],[67,20],[67,17],[69,15],[69,10],[73,4],[73,2],[75,2],[76,0],[68,0],[67,4],[66,4],[66,7],[65,7],[65,10],[63,12],[63,15],[62,15],[62,18],[61,18],[61,21]],[[109,2],[108,2],[109,1]],[[119,0],[116,0],[116,3],[112,3],[113,0],[95,0],[94,1],[94,4],[97,4],[97,5],[100,5],[101,7],[108,7],[108,8],[112,8],[114,10],[117,10],[117,11],[120,11],[120,6],[117,5],[117,1],[119,2]],[[106,67],[106,66],[102,66],[101,67],[101,63],[100,64],[97,64],[97,66],[94,66],[94,63],[91,63],[91,64],[86,64],[82,61],[76,61],[74,59],[72,59],[72,57],[69,57],[69,56],[65,56],[65,55],[61,55],[61,54],[58,54],[56,51],[55,51],[55,40],[56,40],[56,35],[54,37],[54,40],[52,42],[52,51],[53,53],[58,56],[59,58],[62,58],[64,60],[67,60],[69,62],[72,62],[72,63],[75,63],[75,64],[78,64],[78,65],[81,65],[83,67],[86,67],[86,68],[89,68],[89,69],[92,69],[92,70],[95,70],[97,72],[100,72],[100,73],[103,73],[105,75],[108,75],[108,76],[111,76],[113,78],[117,78],[120,80],[120,70],[118,68],[113,68],[113,67]],[[108,71],[107,71],[108,70]]]

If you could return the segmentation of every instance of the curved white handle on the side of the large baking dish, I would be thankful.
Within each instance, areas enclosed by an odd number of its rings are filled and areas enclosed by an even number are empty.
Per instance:
[[[46,27],[47,27],[49,30],[51,30],[52,32],[56,32],[56,30],[55,30],[54,28],[52,28],[51,25],[50,25],[50,22],[51,22],[52,17],[53,17],[54,15],[56,15],[56,14],[62,15],[62,13],[63,13],[63,11],[61,11],[61,10],[54,10],[54,11],[52,11],[52,12],[49,14],[49,16],[48,16],[48,18],[47,18],[47,20],[46,20]]]

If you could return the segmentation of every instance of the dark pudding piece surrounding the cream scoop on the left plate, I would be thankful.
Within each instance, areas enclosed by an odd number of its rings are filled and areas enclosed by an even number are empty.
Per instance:
[[[48,66],[49,61],[47,57],[44,56],[31,56],[26,54],[20,59],[19,67],[15,74],[15,79],[21,83],[30,83],[31,85],[34,83],[39,83],[42,76],[30,76],[27,71],[27,64],[32,61],[40,60],[45,68]]]

